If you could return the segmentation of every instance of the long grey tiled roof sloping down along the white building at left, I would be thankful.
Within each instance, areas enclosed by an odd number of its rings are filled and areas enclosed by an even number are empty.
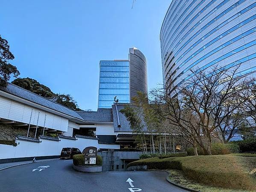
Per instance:
[[[23,89],[19,86],[16,86],[12,83],[8,83],[7,87],[0,86],[0,90],[3,92],[9,93],[11,95],[20,97],[22,99],[31,101],[33,103],[39,104],[41,106],[47,107],[49,109],[53,109],[57,112],[61,112],[65,115],[69,115],[71,117],[82,120],[82,117],[80,115],[78,115],[77,112],[75,112],[74,110],[69,109],[68,107],[65,107],[59,103],[50,101],[44,97],[41,97],[40,95],[32,93],[32,92],[30,92],[26,89]]]

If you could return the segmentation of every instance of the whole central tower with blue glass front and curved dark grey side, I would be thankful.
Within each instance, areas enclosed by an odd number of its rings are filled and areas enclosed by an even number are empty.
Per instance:
[[[129,60],[100,61],[98,108],[111,108],[115,96],[130,103],[138,91],[147,93],[147,61],[138,49],[129,49]]]

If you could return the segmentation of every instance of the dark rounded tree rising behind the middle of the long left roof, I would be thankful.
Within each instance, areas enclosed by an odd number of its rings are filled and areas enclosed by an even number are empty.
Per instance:
[[[37,95],[40,95],[42,97],[55,97],[56,94],[54,94],[51,89],[41,83],[39,83],[35,79],[31,79],[29,77],[26,78],[17,78],[14,81],[12,81],[13,84],[22,87],[26,90],[29,90]]]

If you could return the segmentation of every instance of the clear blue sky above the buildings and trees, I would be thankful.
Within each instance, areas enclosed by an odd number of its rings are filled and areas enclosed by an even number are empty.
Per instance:
[[[20,77],[71,94],[81,109],[97,110],[100,60],[147,57],[148,88],[162,83],[159,33],[171,0],[8,0],[0,34]]]

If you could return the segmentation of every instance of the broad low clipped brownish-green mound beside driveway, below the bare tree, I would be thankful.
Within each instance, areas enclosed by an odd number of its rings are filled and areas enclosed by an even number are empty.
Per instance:
[[[147,165],[148,169],[178,169],[186,177],[209,186],[256,190],[256,158],[231,155],[200,155],[149,158],[129,163]]]

